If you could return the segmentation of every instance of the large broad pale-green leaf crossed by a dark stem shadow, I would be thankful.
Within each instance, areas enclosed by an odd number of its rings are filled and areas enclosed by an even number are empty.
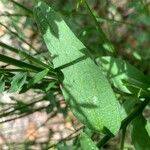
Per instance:
[[[60,14],[43,2],[34,10],[45,43],[54,56],[54,68],[63,78],[62,92],[74,115],[95,131],[115,134],[121,123],[120,105],[87,48],[69,29]]]

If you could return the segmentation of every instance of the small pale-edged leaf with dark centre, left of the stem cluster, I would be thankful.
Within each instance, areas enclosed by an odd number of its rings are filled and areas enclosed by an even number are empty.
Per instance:
[[[24,83],[26,82],[27,73],[18,73],[13,77],[9,92],[20,91]]]

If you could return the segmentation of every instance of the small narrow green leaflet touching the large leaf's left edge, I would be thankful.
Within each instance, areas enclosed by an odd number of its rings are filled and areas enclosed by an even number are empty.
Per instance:
[[[29,81],[29,85],[28,87],[31,87],[32,85],[38,83],[39,81],[41,81],[47,74],[48,74],[48,69],[45,69],[39,73],[37,73],[35,76],[33,76],[33,78],[31,79],[31,81]]]

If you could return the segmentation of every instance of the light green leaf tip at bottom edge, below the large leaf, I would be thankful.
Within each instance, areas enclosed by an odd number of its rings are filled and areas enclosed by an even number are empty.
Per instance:
[[[79,140],[82,150],[99,150],[92,139],[84,132],[80,134]]]

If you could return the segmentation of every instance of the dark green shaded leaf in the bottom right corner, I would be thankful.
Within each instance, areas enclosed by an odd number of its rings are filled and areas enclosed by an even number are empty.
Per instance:
[[[146,120],[140,115],[133,121],[132,142],[136,150],[150,149],[150,136],[145,128]]]

